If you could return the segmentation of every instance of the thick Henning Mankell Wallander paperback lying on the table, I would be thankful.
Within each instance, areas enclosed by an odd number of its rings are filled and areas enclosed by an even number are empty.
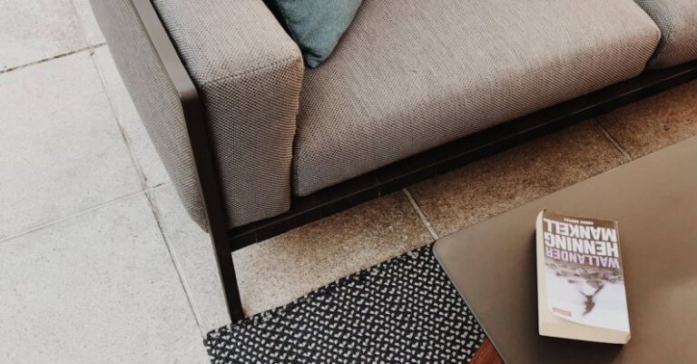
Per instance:
[[[617,221],[543,210],[536,229],[540,335],[629,341]]]

